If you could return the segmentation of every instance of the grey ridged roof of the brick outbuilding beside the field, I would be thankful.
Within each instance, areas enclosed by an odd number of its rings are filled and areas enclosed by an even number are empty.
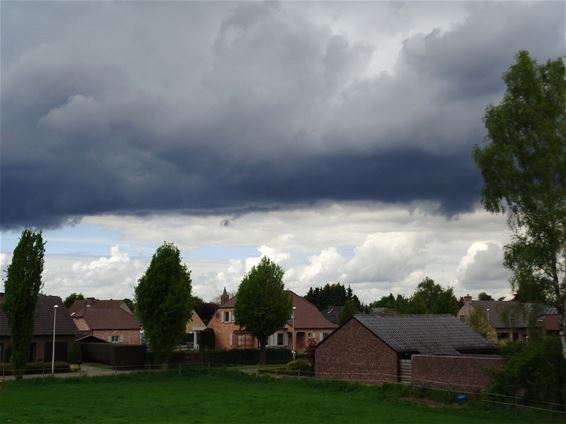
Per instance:
[[[398,353],[458,355],[494,351],[495,346],[452,315],[354,315]]]

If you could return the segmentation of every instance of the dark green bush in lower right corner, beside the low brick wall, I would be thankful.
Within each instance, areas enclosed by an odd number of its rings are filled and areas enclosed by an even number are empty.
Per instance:
[[[492,390],[530,400],[566,400],[566,360],[558,337],[510,343],[500,353],[507,362],[493,372]]]

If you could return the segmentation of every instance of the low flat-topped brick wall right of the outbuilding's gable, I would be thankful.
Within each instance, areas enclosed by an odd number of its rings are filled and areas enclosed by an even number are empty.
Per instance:
[[[486,390],[490,377],[486,370],[500,368],[500,356],[413,355],[413,384],[462,391]]]

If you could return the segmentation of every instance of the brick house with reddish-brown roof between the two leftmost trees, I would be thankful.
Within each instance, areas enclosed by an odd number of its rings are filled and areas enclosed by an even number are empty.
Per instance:
[[[123,300],[77,300],[69,308],[79,331],[110,343],[139,344],[141,325]]]

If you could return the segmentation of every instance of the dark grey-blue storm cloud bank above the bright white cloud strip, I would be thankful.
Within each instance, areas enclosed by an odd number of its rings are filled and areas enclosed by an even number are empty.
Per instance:
[[[284,4],[175,5],[3,6],[2,227],[319,200],[466,210],[501,73],[521,48],[563,53],[559,3],[473,6],[373,77],[379,40]]]

